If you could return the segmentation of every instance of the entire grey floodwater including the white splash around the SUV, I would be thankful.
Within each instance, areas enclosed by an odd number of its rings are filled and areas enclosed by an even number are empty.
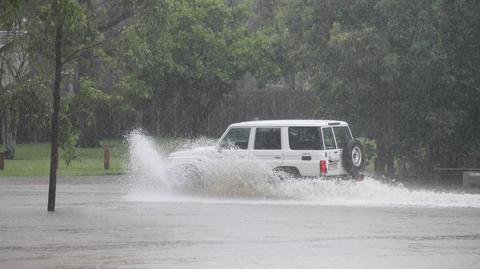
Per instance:
[[[54,213],[46,178],[0,178],[0,268],[480,268],[479,194],[228,161],[180,179],[130,145],[129,175],[60,178]]]

